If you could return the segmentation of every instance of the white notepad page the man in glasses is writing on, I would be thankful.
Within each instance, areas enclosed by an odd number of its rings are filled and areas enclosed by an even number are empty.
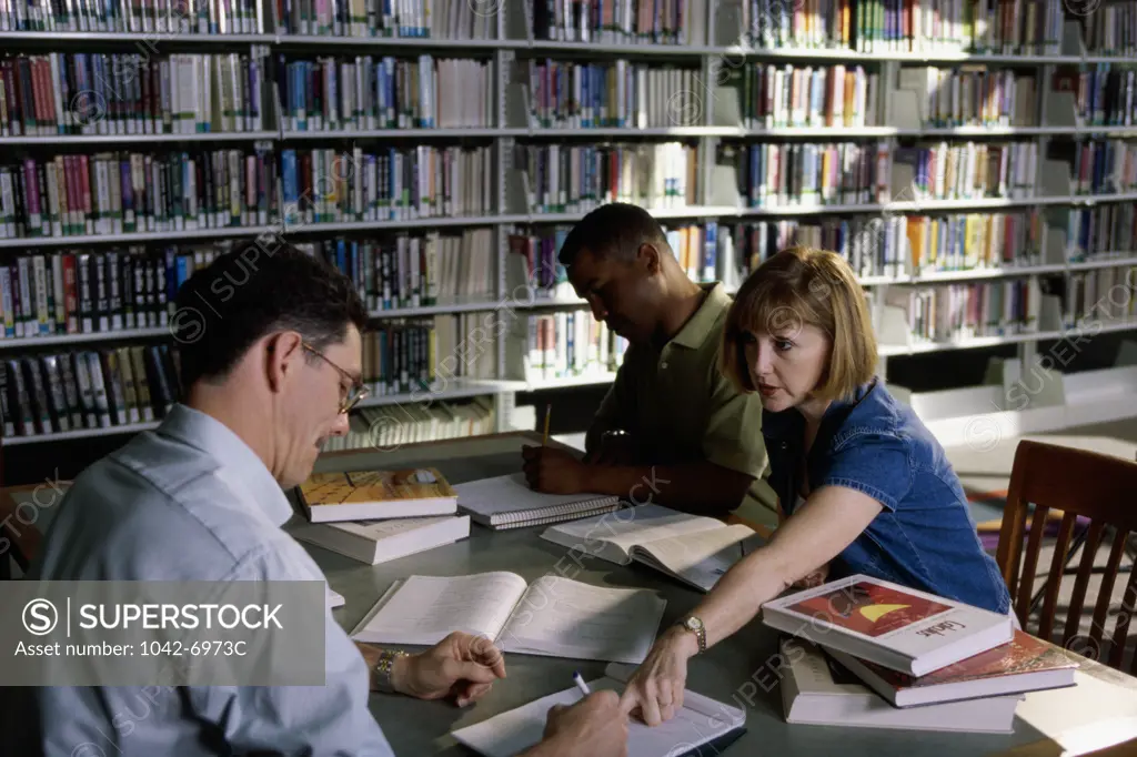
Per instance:
[[[589,681],[588,685],[592,691],[622,692],[624,689],[623,683],[608,677]],[[687,707],[687,699],[692,693],[684,692],[682,709],[659,725],[647,726],[631,719],[628,723],[628,757],[681,755],[736,727],[736,724],[725,718],[715,719]],[[581,698],[580,690],[575,687],[565,689],[454,731],[453,735],[485,757],[514,757],[541,740],[548,712],[554,705],[573,705]],[[714,709],[719,712],[717,706]]]

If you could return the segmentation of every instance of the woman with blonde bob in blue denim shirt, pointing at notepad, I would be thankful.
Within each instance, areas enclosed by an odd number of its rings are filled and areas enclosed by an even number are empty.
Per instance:
[[[702,624],[707,647],[787,589],[855,573],[1010,613],[1010,592],[943,448],[875,365],[864,294],[840,256],[783,250],[739,290],[721,368],[742,391],[762,394],[761,433],[783,519],[684,618]],[[684,625],[661,634],[625,690],[625,710],[639,709],[649,725],[669,719],[697,651]]]

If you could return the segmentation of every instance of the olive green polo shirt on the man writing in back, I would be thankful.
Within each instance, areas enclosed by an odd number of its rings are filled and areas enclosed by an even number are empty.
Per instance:
[[[629,344],[597,411],[600,429],[623,429],[645,461],[708,460],[755,476],[739,517],[778,525],[777,496],[762,438],[762,399],[737,391],[719,371],[722,330],[731,298],[721,282],[702,284],[703,305],[661,351]]]

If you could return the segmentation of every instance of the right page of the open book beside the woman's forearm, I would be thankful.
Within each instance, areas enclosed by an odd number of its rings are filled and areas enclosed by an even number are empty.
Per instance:
[[[632,548],[632,558],[709,591],[735,563],[765,544],[749,526],[698,531]]]

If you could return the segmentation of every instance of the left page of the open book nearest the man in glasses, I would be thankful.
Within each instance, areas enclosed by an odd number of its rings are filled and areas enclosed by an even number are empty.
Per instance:
[[[465,631],[493,639],[524,592],[525,580],[514,573],[413,575],[385,602],[380,600],[382,607],[352,638],[373,643],[434,644],[451,631]]]

